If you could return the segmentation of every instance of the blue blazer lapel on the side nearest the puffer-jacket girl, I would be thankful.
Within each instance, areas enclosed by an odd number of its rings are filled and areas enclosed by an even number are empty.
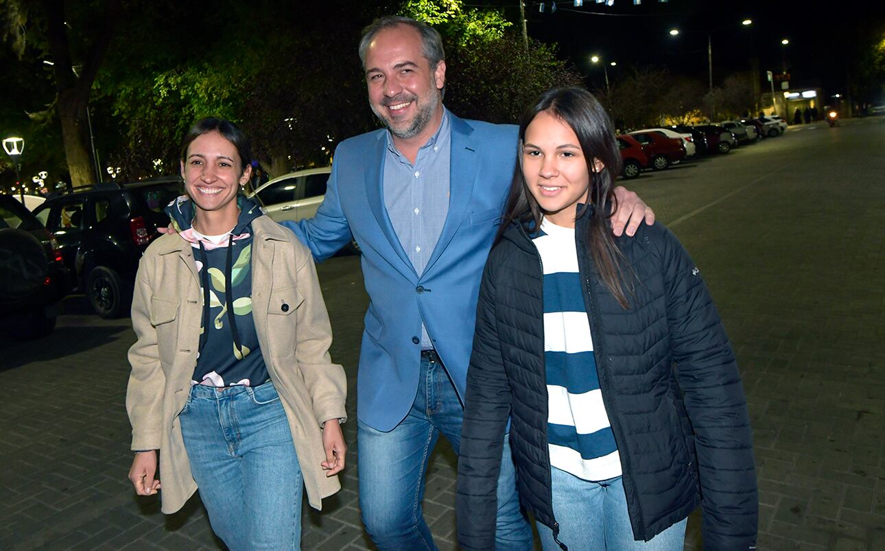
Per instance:
[[[470,137],[473,128],[464,120],[449,113],[451,125],[451,158],[449,168],[449,214],[445,218],[443,231],[436,241],[434,252],[427,261],[424,273],[430,271],[443,250],[449,246],[467,214],[473,196],[473,180],[479,165],[476,145]]]

